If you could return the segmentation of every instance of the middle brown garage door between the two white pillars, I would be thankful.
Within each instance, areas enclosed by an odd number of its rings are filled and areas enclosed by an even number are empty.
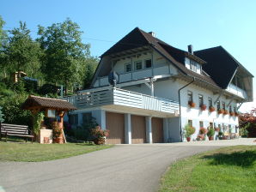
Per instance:
[[[146,142],[146,123],[143,116],[131,116],[131,143]]]

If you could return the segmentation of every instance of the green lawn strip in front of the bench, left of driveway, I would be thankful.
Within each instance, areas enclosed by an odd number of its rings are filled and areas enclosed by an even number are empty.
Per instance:
[[[96,146],[87,143],[39,144],[0,141],[0,161],[39,162],[63,159],[90,153],[113,145]]]

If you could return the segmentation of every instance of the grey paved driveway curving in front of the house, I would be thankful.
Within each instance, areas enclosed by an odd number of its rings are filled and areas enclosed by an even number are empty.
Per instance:
[[[0,163],[3,191],[150,192],[177,159],[253,140],[118,145],[102,151],[40,163]],[[0,192],[2,192],[0,187]]]

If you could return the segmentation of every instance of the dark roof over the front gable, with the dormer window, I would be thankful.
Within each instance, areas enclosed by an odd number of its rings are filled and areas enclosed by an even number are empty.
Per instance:
[[[185,75],[191,75],[193,77],[198,78],[201,81],[205,81],[210,83],[213,86],[216,86],[215,81],[213,81],[209,75],[205,74],[203,71],[203,75],[199,75],[198,73],[193,72],[190,69],[186,69],[184,64],[185,57],[191,57],[192,59],[198,61],[198,63],[205,63],[201,58],[191,55],[187,51],[182,51],[177,49],[171,45],[168,45],[161,39],[157,39],[153,37],[151,34],[144,32],[143,30],[136,27],[130,33],[125,35],[123,39],[120,39],[118,43],[113,45],[109,50],[103,53],[103,56],[111,55],[113,53],[126,51],[129,49],[134,49],[140,46],[150,45],[158,51],[163,57],[166,57],[171,63],[174,63],[174,66]]]

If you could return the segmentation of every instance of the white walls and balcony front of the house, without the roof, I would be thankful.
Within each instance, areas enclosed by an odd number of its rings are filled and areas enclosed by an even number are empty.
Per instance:
[[[151,59],[152,65],[146,68],[145,61],[148,59]],[[137,61],[142,62],[142,69],[136,69]],[[131,71],[127,72],[125,71],[125,65],[129,63],[131,64]],[[184,64],[189,69],[189,65],[187,63]],[[243,90],[229,86],[228,90],[224,90],[227,93],[222,92],[221,89],[219,92],[216,92],[216,90],[206,88],[207,86],[204,86],[204,84],[192,83],[180,91],[179,101],[179,89],[184,87],[189,81],[180,79],[179,70],[156,51],[138,52],[135,56],[120,57],[113,64],[113,70],[119,74],[118,87],[121,89],[112,90],[107,76],[103,76],[94,81],[94,88],[88,91],[88,93],[85,90],[80,96],[70,98],[70,102],[80,106],[78,110],[72,112],[72,114],[78,114],[78,124],[82,124],[82,113],[91,112],[92,116],[96,118],[97,123],[101,125],[101,128],[107,129],[107,111],[124,114],[125,143],[127,144],[131,144],[131,115],[145,117],[146,141],[149,143],[152,143],[152,117],[161,117],[163,119],[164,142],[181,141],[181,135],[182,141],[186,141],[182,134],[183,130],[180,131],[180,127],[183,129],[188,120],[192,120],[192,126],[196,129],[195,134],[192,135],[192,140],[197,138],[200,122],[204,128],[208,128],[210,123],[212,123],[215,127],[229,127],[229,132],[238,133],[238,129],[236,129],[238,117],[218,115],[217,111],[210,112],[208,99],[212,99],[213,106],[216,109],[216,101],[219,100],[221,108],[222,102],[224,102],[226,110],[229,111],[229,105],[231,105],[233,111],[234,107],[237,106],[236,98],[243,99],[246,97],[246,93]],[[198,70],[198,74],[201,73],[200,70]],[[149,85],[149,82],[153,83],[153,85]],[[234,89],[237,93],[234,92]],[[188,105],[188,91],[192,93],[192,100],[196,104],[194,108]],[[202,111],[199,107],[199,94],[203,96],[204,105],[206,105],[205,111]],[[166,102],[164,99],[166,99]],[[148,105],[145,104],[147,102]],[[180,111],[178,106],[174,106],[172,102],[177,104],[180,102]],[[168,104],[169,107],[174,107],[174,111],[164,111],[162,109],[163,105]],[[223,129],[223,131],[228,130]]]

